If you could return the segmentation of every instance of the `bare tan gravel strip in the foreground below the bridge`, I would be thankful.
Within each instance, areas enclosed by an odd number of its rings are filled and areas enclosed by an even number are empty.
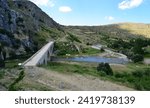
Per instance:
[[[126,91],[131,88],[103,81],[93,76],[79,74],[64,74],[49,71],[43,68],[26,68],[27,76],[40,84],[44,84],[54,90],[62,91]]]

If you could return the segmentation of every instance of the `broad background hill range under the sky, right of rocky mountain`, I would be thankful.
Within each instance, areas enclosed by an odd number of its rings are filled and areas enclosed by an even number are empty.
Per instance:
[[[97,43],[104,38],[150,38],[150,25],[142,23],[119,23],[102,26],[68,26],[68,32],[80,37],[85,43]]]

